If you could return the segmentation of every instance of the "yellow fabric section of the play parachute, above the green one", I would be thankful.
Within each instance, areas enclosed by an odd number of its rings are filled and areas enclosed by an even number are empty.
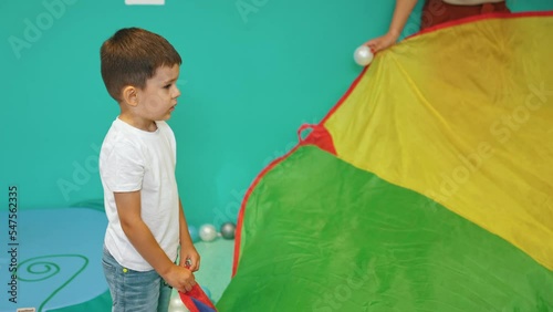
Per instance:
[[[552,270],[552,33],[551,15],[513,15],[379,53],[325,121],[338,157],[435,199]]]

